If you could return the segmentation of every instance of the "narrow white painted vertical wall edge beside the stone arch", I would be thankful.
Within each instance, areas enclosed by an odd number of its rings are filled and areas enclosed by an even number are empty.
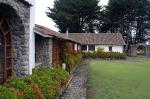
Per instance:
[[[30,34],[29,34],[29,74],[32,74],[32,69],[35,67],[35,0],[27,0],[33,6],[30,8]]]

